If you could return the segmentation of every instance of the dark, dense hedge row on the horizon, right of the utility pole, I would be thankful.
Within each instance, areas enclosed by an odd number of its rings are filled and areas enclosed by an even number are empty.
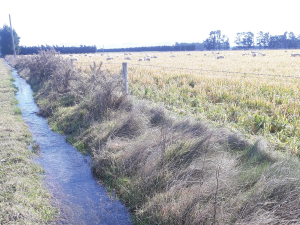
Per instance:
[[[59,46],[50,46],[50,45],[42,45],[42,46],[32,46],[25,47],[20,46],[20,55],[30,55],[30,54],[38,54],[40,50],[50,50],[54,48],[55,51],[64,53],[64,54],[76,54],[76,53],[95,53],[97,51],[96,46],[85,46],[81,45],[80,47],[59,47]]]

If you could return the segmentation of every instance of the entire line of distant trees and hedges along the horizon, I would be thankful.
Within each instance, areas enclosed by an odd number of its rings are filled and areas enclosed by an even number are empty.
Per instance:
[[[220,30],[211,31],[208,38],[202,43],[178,43],[172,46],[151,46],[151,47],[131,47],[131,48],[111,48],[111,49],[97,49],[96,46],[80,47],[59,47],[59,46],[20,46],[20,37],[13,29],[14,44],[16,54],[28,55],[38,54],[39,50],[50,50],[54,48],[56,51],[65,54],[76,53],[95,53],[95,52],[143,52],[143,51],[194,51],[194,50],[228,50],[230,49],[229,38],[223,35]],[[239,32],[236,34],[233,50],[238,49],[280,49],[280,48],[300,48],[300,35],[296,37],[293,32],[284,32],[282,35],[270,35],[269,32],[262,31],[257,33],[256,39],[254,33]],[[0,51],[3,56],[13,54],[13,45],[11,41],[11,29],[7,25],[0,28]]]

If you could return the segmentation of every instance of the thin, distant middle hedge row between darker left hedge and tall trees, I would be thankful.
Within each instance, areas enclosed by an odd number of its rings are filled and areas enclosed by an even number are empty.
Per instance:
[[[196,46],[190,45],[175,45],[175,46],[151,46],[151,47],[132,47],[132,48],[110,48],[110,49],[98,49],[97,52],[148,52],[148,51],[194,51]]]

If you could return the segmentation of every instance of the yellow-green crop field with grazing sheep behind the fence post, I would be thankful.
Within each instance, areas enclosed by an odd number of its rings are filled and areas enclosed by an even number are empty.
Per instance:
[[[201,51],[108,53],[114,57],[109,61],[107,53],[73,57],[78,59],[75,66],[86,72],[90,64],[102,61],[104,70],[121,73],[122,62],[128,62],[129,90],[134,95],[250,138],[263,136],[276,149],[299,155],[300,57],[290,57],[297,50],[258,51],[266,56],[222,51],[225,58],[216,59],[212,52]],[[138,61],[146,54],[158,58]],[[131,60],[124,60],[128,56]]]

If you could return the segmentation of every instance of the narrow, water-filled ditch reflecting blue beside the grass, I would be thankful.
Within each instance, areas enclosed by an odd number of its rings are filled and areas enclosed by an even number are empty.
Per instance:
[[[22,117],[40,146],[36,160],[45,171],[45,184],[60,209],[59,218],[51,224],[131,224],[127,209],[91,174],[89,158],[68,144],[65,137],[50,130],[47,120],[37,116],[32,90],[16,70],[14,84]]]

